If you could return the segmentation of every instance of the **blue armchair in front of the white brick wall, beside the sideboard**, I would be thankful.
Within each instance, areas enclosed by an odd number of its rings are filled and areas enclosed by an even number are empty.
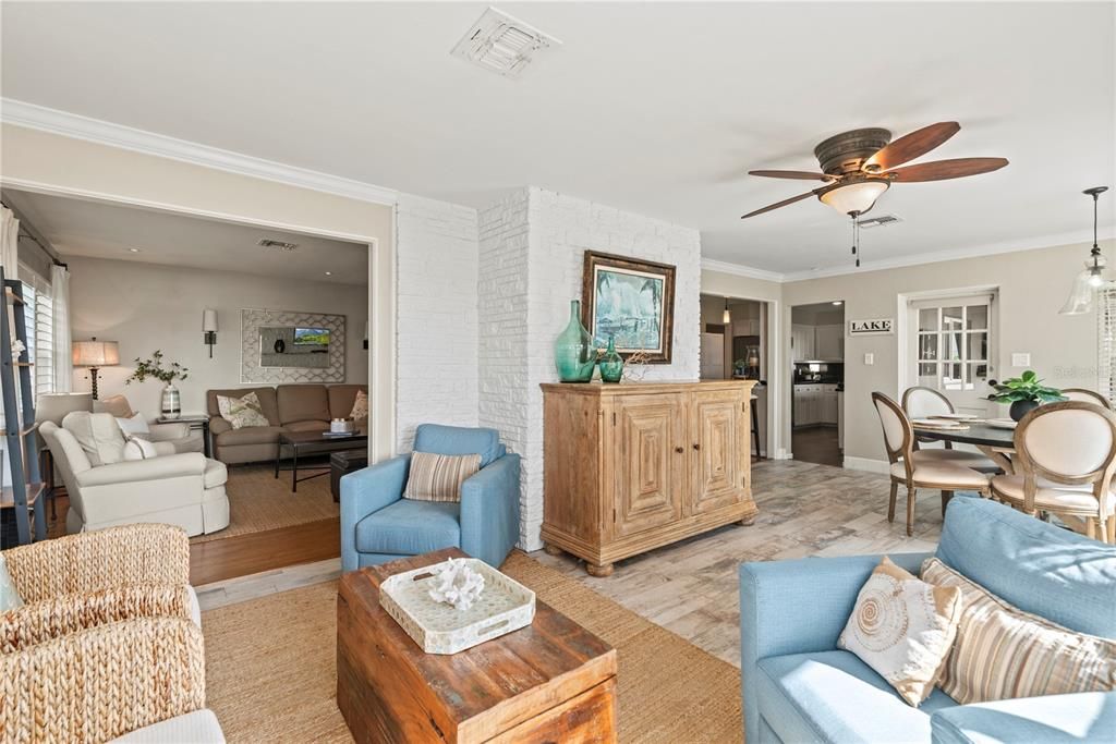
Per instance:
[[[341,477],[341,569],[460,548],[500,566],[519,540],[519,455],[490,428],[423,424],[415,452],[481,456],[481,470],[461,486],[461,503],[403,497],[411,455]]]

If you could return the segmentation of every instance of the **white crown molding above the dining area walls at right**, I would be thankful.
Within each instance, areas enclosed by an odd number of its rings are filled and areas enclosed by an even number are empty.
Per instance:
[[[1116,239],[1116,226],[1103,228],[1099,231],[1099,240]],[[811,279],[825,279],[827,277],[844,277],[855,273],[867,273],[870,271],[886,271],[888,269],[904,269],[906,267],[925,265],[927,263],[941,263],[942,261],[960,261],[964,259],[975,259],[982,255],[997,255],[1000,253],[1016,253],[1019,251],[1033,251],[1043,248],[1055,248],[1057,245],[1072,245],[1076,243],[1091,243],[1093,233],[1088,230],[1078,232],[1064,232],[1052,235],[1040,235],[1038,238],[1026,238],[1022,240],[1004,241],[1002,243],[985,243],[969,248],[958,248],[947,251],[935,251],[933,253],[916,253],[914,255],[896,257],[882,261],[866,261],[859,268],[853,264],[828,267],[817,270],[791,271],[778,273],[766,269],[756,269],[740,263],[718,261],[714,259],[702,259],[701,268],[708,271],[719,271],[721,273],[734,274],[737,277],[749,277],[751,279],[763,279],[780,284],[788,284],[797,281],[809,281]],[[1085,260],[1084,258],[1081,259]]]

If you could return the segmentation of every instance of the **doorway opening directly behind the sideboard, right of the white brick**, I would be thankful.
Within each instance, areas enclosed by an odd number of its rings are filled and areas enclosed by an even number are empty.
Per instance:
[[[752,460],[770,456],[772,415],[768,370],[771,365],[771,312],[768,302],[701,296],[701,379],[751,379]]]

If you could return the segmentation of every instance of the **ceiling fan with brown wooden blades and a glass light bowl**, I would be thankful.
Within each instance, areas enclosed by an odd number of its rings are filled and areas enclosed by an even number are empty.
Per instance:
[[[749,171],[749,175],[768,178],[821,181],[824,186],[798,196],[785,199],[749,212],[741,219],[756,216],[817,196],[841,214],[855,221],[887,191],[893,182],[946,181],[998,171],[1008,164],[1003,157],[959,157],[917,165],[904,163],[925,155],[961,129],[956,122],[939,122],[892,142],[887,129],[854,129],[834,135],[814,148],[821,173],[807,171]]]

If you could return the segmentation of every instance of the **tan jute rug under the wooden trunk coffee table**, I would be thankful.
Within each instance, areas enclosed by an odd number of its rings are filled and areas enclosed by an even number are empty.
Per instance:
[[[503,570],[612,644],[622,742],[740,742],[740,671],[514,552]],[[205,612],[209,706],[230,742],[350,742],[336,705],[337,582]]]

